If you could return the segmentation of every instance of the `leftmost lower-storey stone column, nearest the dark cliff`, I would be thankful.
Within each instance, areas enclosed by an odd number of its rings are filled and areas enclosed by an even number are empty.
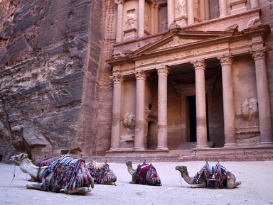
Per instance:
[[[115,75],[112,77],[114,82],[113,88],[113,107],[112,107],[112,130],[111,130],[111,148],[110,150],[119,149],[120,137],[120,106],[121,106],[121,90],[122,76]]]

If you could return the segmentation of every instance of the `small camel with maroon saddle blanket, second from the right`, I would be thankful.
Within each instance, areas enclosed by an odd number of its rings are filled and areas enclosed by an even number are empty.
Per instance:
[[[131,184],[147,184],[153,186],[161,186],[161,179],[153,165],[146,163],[146,160],[137,166],[134,170],[132,161],[127,161],[127,170],[132,175]]]

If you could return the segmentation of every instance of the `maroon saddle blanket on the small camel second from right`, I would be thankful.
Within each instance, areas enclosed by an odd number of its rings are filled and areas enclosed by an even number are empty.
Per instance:
[[[139,184],[160,185],[161,179],[156,168],[146,162],[137,165],[137,181]]]

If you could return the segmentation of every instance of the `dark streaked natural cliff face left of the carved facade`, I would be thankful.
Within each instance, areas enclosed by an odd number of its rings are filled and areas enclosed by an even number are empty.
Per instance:
[[[102,2],[0,1],[4,161],[16,151],[26,151],[33,160],[60,155],[63,149],[92,152],[96,126],[84,130],[83,121],[97,116],[95,89],[103,39],[97,16],[102,19]],[[88,94],[82,97],[84,92]]]

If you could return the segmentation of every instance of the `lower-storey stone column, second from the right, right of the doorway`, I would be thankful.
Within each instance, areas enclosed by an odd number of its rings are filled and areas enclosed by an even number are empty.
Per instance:
[[[237,146],[235,135],[235,111],[232,86],[232,56],[219,56],[222,66],[225,147]]]

